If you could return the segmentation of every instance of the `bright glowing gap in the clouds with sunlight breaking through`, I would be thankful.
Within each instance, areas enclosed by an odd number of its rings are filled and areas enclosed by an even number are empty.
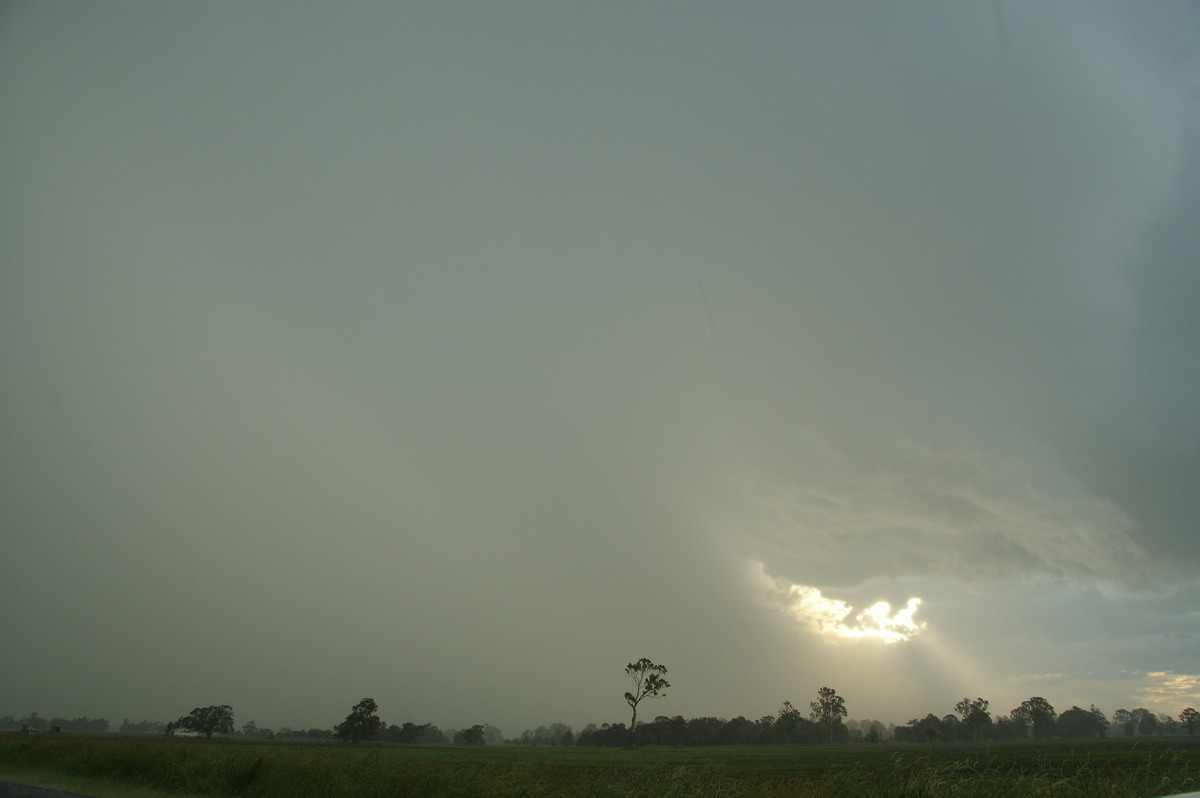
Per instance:
[[[910,598],[901,610],[892,611],[887,601],[876,601],[854,613],[854,607],[839,599],[830,599],[809,584],[794,584],[770,577],[760,564],[773,602],[802,625],[829,637],[869,638],[884,643],[911,640],[924,628],[914,619],[920,599]]]

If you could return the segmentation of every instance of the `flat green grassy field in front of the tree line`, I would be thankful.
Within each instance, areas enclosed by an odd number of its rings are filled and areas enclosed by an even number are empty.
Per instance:
[[[595,749],[288,745],[0,734],[0,778],[95,779],[106,796],[1153,798],[1200,790],[1200,742]],[[114,792],[125,785],[127,793]],[[74,790],[85,787],[76,786]],[[161,794],[161,793],[160,793]]]

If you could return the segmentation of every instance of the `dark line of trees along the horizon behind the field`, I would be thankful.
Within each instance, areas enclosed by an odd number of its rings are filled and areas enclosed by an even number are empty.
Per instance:
[[[566,724],[552,724],[527,730],[520,737],[505,739],[500,730],[488,724],[476,724],[468,728],[442,731],[433,724],[404,722],[386,725],[379,718],[379,706],[373,698],[362,698],[350,709],[346,720],[332,728],[292,730],[259,728],[254,721],[245,724],[235,732],[233,708],[228,704],[196,707],[187,715],[168,724],[156,721],[121,722],[122,733],[166,734],[238,734],[259,738],[310,738],[340,739],[347,743],[389,742],[409,745],[420,744],[514,744],[514,745],[581,745],[581,746],[640,746],[640,745],[803,745],[821,743],[902,743],[978,742],[992,739],[1018,739],[1046,737],[1100,738],[1109,736],[1195,734],[1200,730],[1200,712],[1187,707],[1177,718],[1154,714],[1145,708],[1117,709],[1111,718],[1092,704],[1087,709],[1073,706],[1057,713],[1042,696],[1033,696],[1014,707],[1008,714],[992,718],[990,702],[985,698],[962,698],[954,704],[954,713],[938,716],[929,713],[914,718],[902,726],[884,725],[877,720],[846,720],[845,700],[833,688],[822,686],[817,697],[809,703],[805,714],[790,701],[779,712],[756,720],[737,716],[684,719],[680,715],[659,715],[653,721],[638,722],[637,710],[643,701],[662,697],[671,683],[666,680],[667,668],[642,658],[625,666],[625,674],[634,689],[624,694],[631,709],[630,724],[588,724],[576,734]],[[107,732],[109,722],[103,718],[52,718],[44,720],[32,713],[20,720],[5,715],[0,718],[0,731],[67,731]]]

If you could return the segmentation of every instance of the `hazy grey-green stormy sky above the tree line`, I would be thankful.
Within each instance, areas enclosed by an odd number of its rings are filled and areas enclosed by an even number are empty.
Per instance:
[[[1200,706],[1188,0],[7,2],[0,109],[0,714]]]

